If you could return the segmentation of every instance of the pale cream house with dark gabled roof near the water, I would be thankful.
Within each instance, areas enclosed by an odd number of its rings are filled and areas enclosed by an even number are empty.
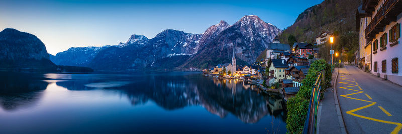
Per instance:
[[[285,69],[289,66],[285,60],[271,59],[269,62],[269,79],[275,79],[274,82],[280,82],[285,79]]]

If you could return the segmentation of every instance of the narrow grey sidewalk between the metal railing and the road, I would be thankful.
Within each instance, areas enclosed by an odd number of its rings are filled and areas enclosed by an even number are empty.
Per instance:
[[[335,69],[332,73],[332,87],[334,87],[337,72],[338,69]],[[338,104],[338,102],[335,102],[332,87],[326,89],[324,92],[324,99],[321,100],[319,104],[317,114],[317,133],[346,133],[342,116],[338,116],[338,113],[341,112],[337,112],[336,104]]]

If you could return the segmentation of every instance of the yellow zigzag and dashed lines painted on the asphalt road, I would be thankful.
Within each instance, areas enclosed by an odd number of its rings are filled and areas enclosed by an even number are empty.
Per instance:
[[[344,76],[341,76],[341,77],[344,77]],[[362,116],[362,115],[358,115],[358,114],[353,113],[353,112],[362,110],[362,109],[364,109],[364,108],[373,106],[373,105],[377,104],[377,102],[373,102],[373,101],[368,101],[368,100],[363,100],[363,99],[358,99],[358,98],[349,97],[350,95],[359,94],[359,93],[364,93],[364,92],[363,92],[363,91],[359,91],[359,90],[354,90],[354,89],[349,89],[349,88],[348,88],[348,87],[355,87],[355,86],[357,86],[357,83],[356,83],[356,82],[355,82],[356,85],[353,85],[353,84],[349,84],[348,82],[354,82],[354,81],[350,81],[350,80],[347,80],[347,79],[345,79],[345,78],[341,78],[341,80],[345,80],[345,82],[339,82],[339,83],[347,84],[347,85],[352,85],[352,86],[345,86],[345,87],[339,87],[339,88],[343,88],[343,89],[351,90],[351,91],[356,91],[356,92],[355,92],[355,93],[350,93],[350,94],[344,94],[344,95],[340,95],[340,96],[345,97],[345,98],[349,98],[349,99],[354,99],[354,100],[359,100],[359,101],[371,103],[371,104],[368,104],[368,105],[365,105],[365,106],[362,106],[362,107],[359,107],[359,108],[356,108],[356,109],[347,111],[347,112],[346,112],[347,114],[352,115],[352,116],[355,116],[355,117],[359,117],[359,118],[364,118],[364,119],[367,119],[367,120],[371,120],[371,121],[376,121],[376,122],[381,122],[381,123],[387,123],[387,124],[396,125],[395,129],[393,129],[393,131],[392,131],[391,133],[392,133],[392,134],[399,133],[399,131],[402,129],[402,123],[391,122],[391,121],[385,121],[385,120],[380,120],[380,119],[375,119],[375,118],[366,117],[366,116]],[[346,82],[346,81],[348,81],[348,82]],[[357,86],[357,87],[359,87],[359,89],[362,90],[360,86]],[[365,93],[365,94],[366,94],[366,93]],[[371,97],[368,96],[368,94],[366,94],[366,96],[367,96],[369,99],[371,99]],[[379,107],[385,114],[387,114],[388,116],[392,116],[389,112],[387,112],[387,111],[386,111],[384,108],[382,108],[381,106],[378,106],[378,107]]]

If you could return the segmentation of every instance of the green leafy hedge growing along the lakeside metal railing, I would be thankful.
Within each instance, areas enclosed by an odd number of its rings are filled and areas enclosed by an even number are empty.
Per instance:
[[[303,130],[303,125],[306,119],[307,109],[309,108],[309,100],[311,88],[316,81],[321,70],[325,70],[325,83],[321,88],[321,92],[331,86],[331,66],[323,59],[314,61],[309,68],[305,79],[302,81],[302,86],[295,97],[289,98],[287,101],[287,119],[286,128],[289,133],[300,133]]]

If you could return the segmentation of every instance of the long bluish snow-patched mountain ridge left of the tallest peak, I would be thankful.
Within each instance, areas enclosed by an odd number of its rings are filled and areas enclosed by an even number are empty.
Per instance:
[[[200,37],[199,34],[167,29],[144,44],[139,44],[143,41],[130,43],[132,40],[129,39],[126,45],[102,50],[89,66],[98,70],[173,68],[183,62],[165,62],[186,61],[190,55],[196,53],[195,48]]]

